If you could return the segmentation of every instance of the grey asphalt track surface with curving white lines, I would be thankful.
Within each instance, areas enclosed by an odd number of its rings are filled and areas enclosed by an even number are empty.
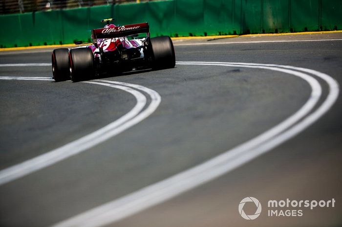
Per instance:
[[[0,52],[0,226],[341,226],[341,39],[175,40],[174,69],[92,83],[51,81],[51,67],[36,65],[50,62],[49,49]],[[223,159],[299,110],[240,159]],[[56,150],[61,160],[4,178]],[[221,169],[202,168],[215,158]],[[202,172],[184,180],[193,167]],[[262,205],[255,220],[239,214],[249,196]],[[267,201],[287,198],[336,203],[268,216]],[[256,206],[243,209],[254,214]]]

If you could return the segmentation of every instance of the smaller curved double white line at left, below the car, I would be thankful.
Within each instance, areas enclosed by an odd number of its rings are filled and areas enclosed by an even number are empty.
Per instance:
[[[39,79],[34,78],[32,80],[39,80]],[[90,149],[98,145],[99,143],[102,143],[103,141],[109,139],[110,137],[113,137],[119,134],[120,132],[125,131],[129,127],[132,127],[133,125],[137,124],[138,122],[142,121],[143,119],[148,117],[150,114],[152,114],[154,110],[156,110],[156,108],[158,107],[161,101],[160,95],[157,92],[151,89],[142,87],[142,86],[134,85],[134,84],[113,82],[113,81],[107,81],[107,80],[101,80],[101,82],[85,81],[84,83],[103,85],[103,86],[126,91],[130,93],[131,95],[134,95],[134,97],[137,100],[137,103],[134,106],[134,108],[130,110],[127,114],[123,115],[119,119],[113,121],[112,123],[106,125],[105,127],[95,132],[85,135],[84,137],[77,139],[73,142],[70,142],[68,144],[65,144],[64,146],[60,148],[57,148],[55,150],[39,155],[35,158],[24,161],[20,164],[1,170],[0,171],[0,185],[13,181],[15,179],[18,179],[20,177],[23,177],[34,171],[41,170],[45,167],[51,166],[72,155],[75,155],[82,151]],[[147,93],[151,97],[150,105],[145,110],[143,109],[146,106],[147,98],[145,97],[143,93],[135,90],[136,87],[141,88],[141,90],[143,90],[145,93]]]

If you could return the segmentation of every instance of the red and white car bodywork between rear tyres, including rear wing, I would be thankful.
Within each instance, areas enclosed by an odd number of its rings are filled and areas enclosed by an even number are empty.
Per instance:
[[[146,37],[137,37],[139,34]],[[92,30],[94,53],[98,72],[130,71],[133,68],[149,67],[149,24],[139,23],[124,26],[106,25],[105,28]],[[120,69],[118,69],[120,67]]]

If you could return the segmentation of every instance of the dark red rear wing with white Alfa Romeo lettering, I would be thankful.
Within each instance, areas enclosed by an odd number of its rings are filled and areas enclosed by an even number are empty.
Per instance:
[[[112,28],[98,28],[92,30],[93,44],[97,46],[98,38],[118,38],[140,33],[148,33],[150,36],[149,23],[128,24]]]

